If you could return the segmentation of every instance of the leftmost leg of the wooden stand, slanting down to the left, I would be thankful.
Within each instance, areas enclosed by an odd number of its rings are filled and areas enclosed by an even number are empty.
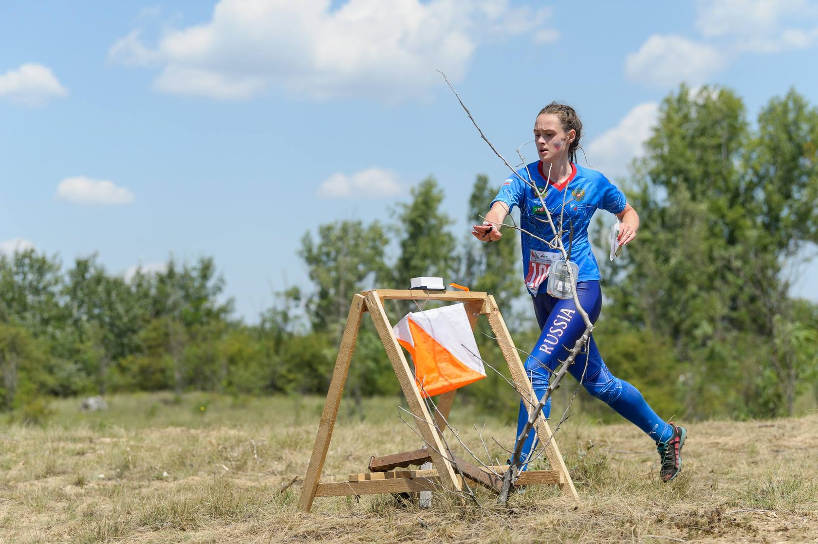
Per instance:
[[[315,445],[312,447],[307,474],[304,476],[304,484],[299,498],[299,508],[304,511],[309,511],[312,508],[312,500],[317,492],[321,471],[324,470],[326,452],[330,447],[335,418],[338,416],[341,395],[344,393],[344,383],[349,373],[349,362],[353,358],[358,329],[361,327],[361,318],[365,311],[366,299],[361,294],[355,294],[353,302],[349,306],[347,326],[344,329],[344,336],[341,338],[338,357],[335,359],[335,370],[332,371],[330,389],[326,393],[324,411],[321,412],[321,421],[318,424],[318,434],[315,438]]]

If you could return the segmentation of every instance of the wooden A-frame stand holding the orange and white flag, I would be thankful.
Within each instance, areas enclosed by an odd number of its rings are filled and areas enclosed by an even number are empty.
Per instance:
[[[440,395],[438,399],[438,411],[440,413],[436,413],[432,417],[424,399],[421,397],[420,389],[418,389],[409,363],[403,355],[400,344],[398,344],[398,339],[395,338],[392,326],[389,323],[389,317],[384,311],[384,299],[444,300],[465,303],[466,315],[469,317],[473,329],[478,316],[486,315],[497,338],[497,344],[499,344],[503,357],[509,366],[512,380],[519,391],[528,394],[528,398],[534,398],[531,382],[526,376],[523,362],[520,361],[514,341],[511,339],[508,329],[506,329],[506,322],[503,321],[500,309],[497,308],[497,303],[495,303],[492,295],[477,292],[427,290],[372,290],[355,294],[352,306],[349,308],[349,317],[344,329],[344,336],[341,339],[338,357],[335,360],[335,371],[332,373],[330,389],[326,394],[326,403],[324,404],[324,411],[321,413],[321,422],[318,425],[315,446],[312,448],[312,456],[310,456],[307,474],[304,477],[299,500],[299,507],[302,510],[310,510],[315,497],[434,491],[439,486],[452,491],[461,491],[463,477],[499,491],[499,479],[497,479],[496,474],[461,459],[455,459],[455,465],[450,461],[451,456],[442,455],[442,452],[446,452],[441,436],[442,431],[446,428],[444,418],[448,417],[449,411],[452,409],[455,391]],[[392,362],[395,375],[398,376],[403,394],[407,398],[409,410],[415,416],[420,436],[428,447],[384,457],[373,456],[369,466],[371,473],[350,474],[348,480],[345,481],[321,482],[321,471],[324,468],[326,452],[330,447],[330,439],[332,438],[332,430],[335,427],[335,418],[338,416],[341,394],[344,392],[344,382],[346,382],[349,372],[349,362],[353,357],[357,333],[364,312],[369,312],[372,321],[375,321],[375,329],[384,343],[384,348],[386,348],[389,361]],[[560,486],[564,495],[576,498],[577,490],[573,487],[571,476],[565,468],[565,463],[560,455],[560,449],[551,434],[551,427],[549,427],[545,417],[542,416],[542,412],[537,422],[537,437],[541,444],[546,444],[546,458],[551,463],[552,470],[529,470],[524,472],[517,480],[517,485],[555,483]],[[393,470],[409,465],[421,465],[428,461],[433,463],[433,470]],[[492,470],[495,473],[501,473],[506,468],[506,466],[496,466],[492,467]]]

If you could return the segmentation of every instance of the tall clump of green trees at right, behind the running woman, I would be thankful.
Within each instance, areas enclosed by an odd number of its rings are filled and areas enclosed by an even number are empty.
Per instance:
[[[743,395],[748,415],[774,415],[780,405],[766,394],[770,372],[751,367],[784,368],[775,316],[793,320],[781,272],[818,236],[816,136],[816,110],[795,92],[762,109],[757,132],[724,88],[682,86],[663,101],[628,195],[640,236],[607,274],[608,294],[619,316],[670,339],[680,363],[668,370],[685,383],[690,414],[718,402],[714,388],[749,375],[757,382]],[[772,365],[753,353],[735,362],[747,345],[771,353]],[[776,374],[780,389],[789,378]]]

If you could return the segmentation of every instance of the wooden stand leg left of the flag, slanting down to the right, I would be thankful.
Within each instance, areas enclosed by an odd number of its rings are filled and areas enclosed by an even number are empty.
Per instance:
[[[406,357],[403,356],[403,350],[398,344],[398,339],[395,338],[392,327],[389,326],[389,317],[386,317],[384,305],[378,297],[378,291],[370,291],[366,295],[366,308],[369,310],[372,321],[375,321],[375,329],[378,330],[378,335],[380,335],[380,339],[384,343],[389,361],[392,362],[395,375],[398,376],[401,389],[409,404],[409,410],[418,418],[416,423],[420,437],[429,445],[429,454],[432,456],[434,466],[440,472],[440,481],[443,486],[454,491],[460,491],[460,483],[456,479],[452,463],[438,453],[446,451],[443,441],[440,434],[438,434],[437,427],[434,426],[434,420],[426,408],[424,399],[420,396],[415,376],[412,375],[409,369],[409,363]]]

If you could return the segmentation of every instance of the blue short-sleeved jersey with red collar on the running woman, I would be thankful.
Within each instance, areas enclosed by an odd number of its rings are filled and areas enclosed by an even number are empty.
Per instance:
[[[506,179],[491,205],[494,205],[495,202],[504,202],[509,210],[518,206],[521,223],[519,226],[539,238],[551,241],[554,235],[545,211],[542,209],[540,200],[540,195],[542,195],[557,229],[560,228],[560,213],[562,212],[562,240],[565,250],[569,249],[569,232],[573,224],[571,260],[579,267],[577,281],[599,280],[600,268],[596,264],[591,244],[588,241],[588,224],[591,223],[591,217],[597,209],[619,214],[625,209],[627,201],[622,191],[619,191],[613,183],[608,181],[608,178],[596,170],[582,168],[577,164],[571,164],[571,169],[568,181],[564,186],[558,188],[548,182],[547,172],[542,172],[540,161],[528,164]],[[534,187],[537,187],[536,191]],[[560,259],[560,253],[557,250],[551,250],[545,242],[533,236],[523,233],[520,238],[523,243],[523,270],[526,287],[531,294],[545,293],[546,281],[544,280],[548,268]]]

